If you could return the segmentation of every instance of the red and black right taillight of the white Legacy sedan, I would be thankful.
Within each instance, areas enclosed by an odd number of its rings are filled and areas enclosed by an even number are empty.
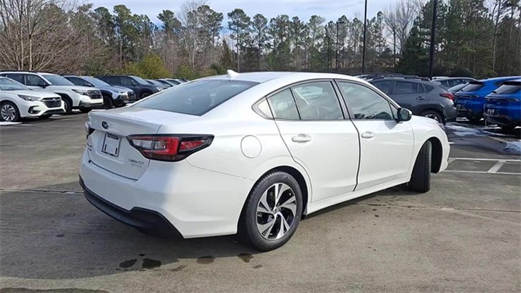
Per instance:
[[[180,161],[212,143],[209,135],[137,135],[128,141],[141,154],[158,161]]]

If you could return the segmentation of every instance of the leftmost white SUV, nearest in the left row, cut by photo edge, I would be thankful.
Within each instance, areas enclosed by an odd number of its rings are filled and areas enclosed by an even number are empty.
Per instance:
[[[48,118],[65,113],[59,95],[35,91],[6,77],[0,77],[0,120],[16,122],[20,118]]]

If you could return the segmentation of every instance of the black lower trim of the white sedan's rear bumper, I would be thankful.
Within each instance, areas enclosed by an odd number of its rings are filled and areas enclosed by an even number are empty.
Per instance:
[[[162,214],[142,209],[140,207],[134,207],[132,210],[127,211],[120,206],[110,203],[100,196],[97,196],[90,189],[85,187],[83,179],[80,176],[80,185],[83,188],[85,198],[98,210],[105,214],[117,219],[118,221],[125,223],[129,226],[146,229],[154,234],[160,234],[168,237],[182,238],[179,231],[173,227],[170,222]]]

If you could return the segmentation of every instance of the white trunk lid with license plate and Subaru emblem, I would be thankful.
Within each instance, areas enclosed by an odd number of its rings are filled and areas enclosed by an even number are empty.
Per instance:
[[[91,112],[88,139],[89,158],[111,173],[138,180],[150,160],[130,145],[131,135],[154,135],[165,123],[183,123],[194,116],[139,107]]]

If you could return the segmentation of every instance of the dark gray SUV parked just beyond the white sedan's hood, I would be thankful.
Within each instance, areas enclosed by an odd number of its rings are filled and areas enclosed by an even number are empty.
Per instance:
[[[438,82],[406,76],[366,79],[414,115],[429,117],[443,124],[456,121],[454,96],[441,88]]]

